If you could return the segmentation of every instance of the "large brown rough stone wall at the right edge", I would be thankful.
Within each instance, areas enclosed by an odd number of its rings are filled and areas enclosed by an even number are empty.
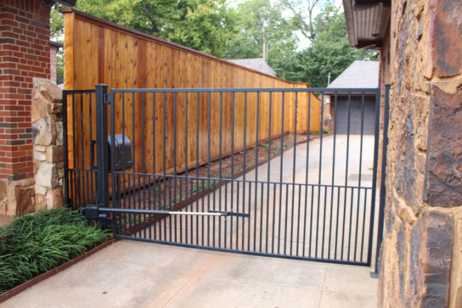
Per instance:
[[[392,2],[380,307],[462,307],[461,16],[461,1]]]

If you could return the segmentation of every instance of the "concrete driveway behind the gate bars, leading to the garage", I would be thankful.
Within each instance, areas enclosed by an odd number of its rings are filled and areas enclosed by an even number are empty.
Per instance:
[[[207,212],[233,208],[234,212],[248,214],[248,218],[225,221],[223,217],[168,217],[133,237],[366,262],[371,230],[373,141],[371,135],[364,135],[362,140],[360,135],[338,135],[334,143],[334,136],[324,136],[321,151],[321,140],[315,138],[309,147],[307,143],[299,144],[284,152],[282,159],[273,158],[269,167],[265,163],[257,172],[246,174],[246,181],[287,184],[234,182],[232,189],[228,183],[182,209]],[[306,183],[306,177],[314,186],[297,185]],[[242,179],[243,176],[239,177]],[[319,187],[318,183],[333,183],[340,188]],[[350,188],[346,190],[343,185]],[[372,260],[374,257],[375,249]]]

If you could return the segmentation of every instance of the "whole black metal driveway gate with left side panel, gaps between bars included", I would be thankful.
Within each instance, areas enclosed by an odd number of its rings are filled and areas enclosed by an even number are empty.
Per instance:
[[[313,121],[309,93],[322,101],[321,114],[334,111],[329,133],[319,118],[317,134],[297,132],[301,120],[306,127]],[[348,98],[341,108],[340,95]],[[362,107],[357,135],[350,134],[352,96]],[[364,114],[367,96],[375,98],[372,115]],[[329,99],[333,107],[324,104]],[[64,100],[73,108],[65,125],[74,136],[64,142],[82,154],[73,154],[72,167],[66,158],[66,198],[116,237],[371,265],[374,226],[380,242],[383,221],[382,210],[376,211],[380,88],[107,93],[107,86],[97,85],[64,91]],[[301,116],[302,103],[308,108]],[[348,113],[347,134],[337,133],[338,109]],[[292,130],[284,125],[288,113]],[[373,116],[373,135],[364,134],[367,116]],[[275,119],[278,132],[272,132]],[[386,117],[385,131],[387,123]]]

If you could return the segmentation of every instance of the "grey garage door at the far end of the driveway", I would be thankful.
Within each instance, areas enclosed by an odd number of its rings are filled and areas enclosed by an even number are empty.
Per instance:
[[[350,134],[361,134],[361,100],[351,100]],[[348,134],[348,101],[338,100],[335,120],[337,134]],[[375,100],[364,100],[364,134],[373,134],[375,121]]]

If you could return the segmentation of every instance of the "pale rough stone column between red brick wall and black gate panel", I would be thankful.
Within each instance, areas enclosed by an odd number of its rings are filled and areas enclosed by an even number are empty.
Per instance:
[[[34,78],[32,135],[35,210],[64,205],[62,91],[50,80]]]

